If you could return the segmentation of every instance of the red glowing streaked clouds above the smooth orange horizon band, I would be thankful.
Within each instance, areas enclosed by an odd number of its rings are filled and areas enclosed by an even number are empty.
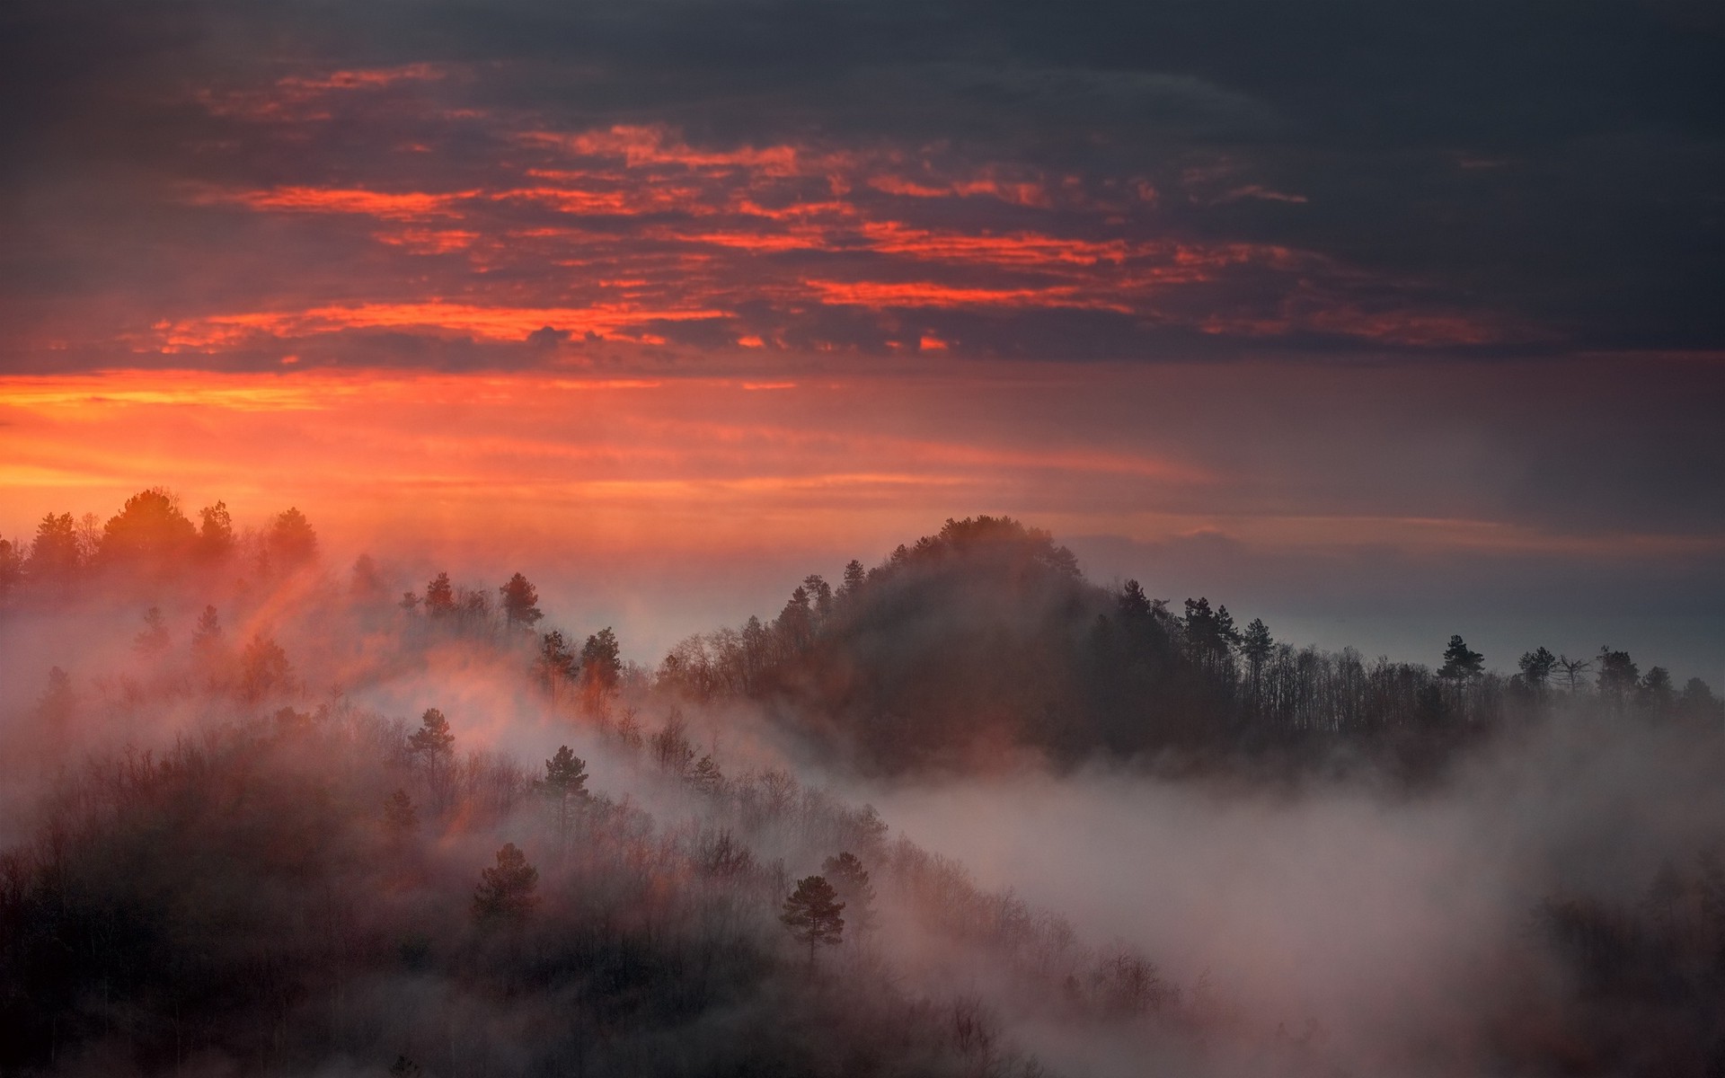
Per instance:
[[[536,366],[568,362],[585,342],[1047,359],[1082,345],[1130,359],[1168,331],[1420,348],[1528,333],[1327,255],[1176,235],[1142,178],[973,160],[945,145],[711,147],[664,124],[555,129],[450,107],[474,78],[416,64],[193,93],[264,145],[317,147],[340,119],[374,131],[376,148],[364,167],[304,155],[273,185],[181,185],[183,209],[264,240],[219,250],[226,267],[181,269],[178,302],[40,319],[29,347],[317,366],[373,362],[412,336],[531,338],[543,347],[486,362]],[[407,128],[411,138],[395,135]],[[450,140],[480,136],[488,154],[440,164]],[[1280,198],[1220,179],[1239,198]],[[329,254],[309,262],[316,250]],[[223,288],[190,286],[212,273]]]

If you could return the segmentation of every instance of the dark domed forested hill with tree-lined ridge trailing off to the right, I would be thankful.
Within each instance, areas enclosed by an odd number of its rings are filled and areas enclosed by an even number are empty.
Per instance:
[[[1722,719],[1708,685],[1642,674],[1620,650],[1570,659],[1530,642],[1520,671],[1484,669],[1452,636],[1437,669],[1276,642],[1226,605],[1175,614],[1137,581],[1083,578],[1071,550],[1009,517],[947,521],[837,588],[806,578],[764,623],[681,642],[662,688],[743,697],[869,769],[968,768],[1033,750],[1183,759],[1346,747],[1411,769],[1558,707],[1649,721]]]

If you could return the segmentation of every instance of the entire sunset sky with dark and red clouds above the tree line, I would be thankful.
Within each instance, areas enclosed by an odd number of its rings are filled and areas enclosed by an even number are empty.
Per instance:
[[[0,535],[295,504],[652,661],[1006,512],[1725,685],[1720,10],[12,0]]]

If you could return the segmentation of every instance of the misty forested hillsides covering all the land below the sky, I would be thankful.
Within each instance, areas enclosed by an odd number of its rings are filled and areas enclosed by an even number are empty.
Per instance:
[[[0,1075],[1725,1075],[1699,678],[1304,647],[1007,517],[640,659],[400,555],[166,488],[0,538]],[[1175,838],[1064,837],[1092,878],[1021,893],[916,838],[945,795],[976,849],[1140,797]],[[1325,909],[1264,916],[1382,928],[1382,1014],[1094,868],[1199,887],[1252,857],[1220,819],[1323,824],[1285,856]],[[1373,892],[1373,849],[1456,893]]]

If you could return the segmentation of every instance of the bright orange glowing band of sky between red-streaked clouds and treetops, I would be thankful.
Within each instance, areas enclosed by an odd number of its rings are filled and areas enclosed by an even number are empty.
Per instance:
[[[890,548],[954,512],[1142,542],[1701,552],[1715,536],[1552,535],[1337,502],[1289,512],[1154,428],[1070,424],[1218,378],[1133,367],[743,378],[129,371],[0,385],[0,524],[167,485],[242,519],[297,504],[340,545],[483,552],[504,531],[612,555]],[[1040,412],[1044,421],[1035,414]],[[1049,429],[1052,428],[1052,429]],[[1059,431],[1059,433],[1056,433]],[[1028,436],[1028,443],[1026,443]],[[1175,438],[1173,442],[1178,442]],[[531,540],[530,540],[531,542]]]

